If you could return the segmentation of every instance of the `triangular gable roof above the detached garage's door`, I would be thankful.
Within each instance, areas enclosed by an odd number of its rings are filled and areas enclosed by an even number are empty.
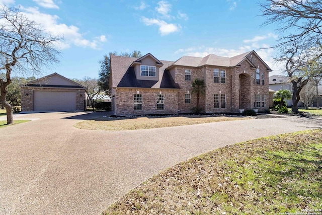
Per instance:
[[[40,79],[36,79],[34,81],[28,82],[26,86],[69,86],[73,88],[84,88],[83,85],[77,84],[76,82],[71,81],[70,79],[67,79],[57,73],[50,74],[48,76],[42,77]]]

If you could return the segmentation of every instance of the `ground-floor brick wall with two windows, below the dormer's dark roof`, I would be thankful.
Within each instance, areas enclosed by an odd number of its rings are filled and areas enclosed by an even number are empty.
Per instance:
[[[142,111],[134,111],[134,94],[142,94]],[[164,95],[164,110],[156,110],[157,96]],[[117,88],[115,114],[142,115],[142,114],[176,114],[178,113],[178,90],[176,89],[144,89],[144,88]]]

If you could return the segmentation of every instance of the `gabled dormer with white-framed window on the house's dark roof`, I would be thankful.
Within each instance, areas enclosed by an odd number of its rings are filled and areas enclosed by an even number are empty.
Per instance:
[[[136,79],[148,81],[159,81],[159,68],[161,66],[163,66],[163,63],[150,53],[138,58],[131,64],[131,67],[134,68]]]

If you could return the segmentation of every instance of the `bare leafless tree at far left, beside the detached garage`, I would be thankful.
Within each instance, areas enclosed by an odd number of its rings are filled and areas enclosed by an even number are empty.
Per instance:
[[[12,106],[7,102],[7,87],[12,72],[41,74],[43,66],[59,62],[54,45],[61,38],[45,33],[41,26],[16,8],[0,9],[0,102],[7,109],[7,123],[13,123]]]

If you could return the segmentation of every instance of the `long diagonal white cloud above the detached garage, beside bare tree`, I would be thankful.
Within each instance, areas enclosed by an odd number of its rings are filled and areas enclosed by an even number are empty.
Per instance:
[[[93,40],[85,39],[76,26],[60,24],[58,23],[58,16],[43,14],[39,12],[38,8],[21,7],[21,10],[28,19],[42,25],[45,31],[55,36],[63,36],[64,40],[57,42],[57,46],[60,49],[69,48],[71,45],[98,49],[100,43],[107,41],[104,35],[95,37]]]

